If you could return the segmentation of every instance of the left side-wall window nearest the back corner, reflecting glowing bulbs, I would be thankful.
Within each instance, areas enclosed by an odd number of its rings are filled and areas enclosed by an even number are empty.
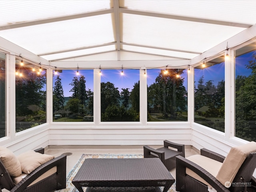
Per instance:
[[[46,123],[46,70],[16,58],[16,132]]]

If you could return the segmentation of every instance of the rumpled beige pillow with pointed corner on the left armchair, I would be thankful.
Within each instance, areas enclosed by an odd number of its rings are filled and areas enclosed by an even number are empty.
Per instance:
[[[40,165],[52,160],[54,156],[41,154],[32,150],[24,152],[17,156],[21,164],[22,172],[30,174]]]

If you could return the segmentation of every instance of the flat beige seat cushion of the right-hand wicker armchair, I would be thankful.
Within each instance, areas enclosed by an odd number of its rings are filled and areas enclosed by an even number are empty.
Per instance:
[[[204,168],[206,171],[208,171],[210,174],[212,174],[214,177],[218,174],[218,171],[220,167],[222,166],[221,162],[218,162],[216,160],[213,160],[211,158],[208,158],[206,156],[202,155],[192,155],[187,157],[186,159],[194,162],[195,164],[199,165],[200,167]],[[189,168],[186,168],[186,174],[190,177],[206,184],[209,186],[209,188],[212,188],[212,186],[206,182],[202,177],[200,177],[198,174],[190,170]]]

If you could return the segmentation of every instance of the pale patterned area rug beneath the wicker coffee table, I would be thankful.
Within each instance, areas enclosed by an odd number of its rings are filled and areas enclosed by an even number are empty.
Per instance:
[[[66,179],[66,189],[58,190],[55,192],[79,192],[74,185],[72,184],[72,180],[78,170],[80,169],[81,165],[83,164],[85,159],[88,158],[143,158],[143,155],[131,154],[131,155],[118,155],[118,154],[82,154],[79,158],[76,165],[70,170]],[[83,188],[86,191],[86,187]],[[168,190],[168,192],[176,192],[175,183],[172,187]]]

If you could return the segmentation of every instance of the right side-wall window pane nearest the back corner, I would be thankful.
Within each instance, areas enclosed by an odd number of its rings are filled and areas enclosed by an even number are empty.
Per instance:
[[[224,132],[225,58],[204,60],[203,64],[194,71],[194,122]]]

